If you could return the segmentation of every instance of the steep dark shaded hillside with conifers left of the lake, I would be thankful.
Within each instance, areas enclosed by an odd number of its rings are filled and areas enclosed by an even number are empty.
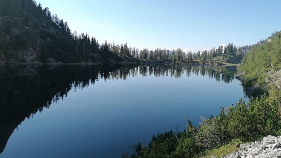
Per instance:
[[[32,0],[0,0],[0,63],[123,61]],[[125,61],[131,60],[127,58]]]

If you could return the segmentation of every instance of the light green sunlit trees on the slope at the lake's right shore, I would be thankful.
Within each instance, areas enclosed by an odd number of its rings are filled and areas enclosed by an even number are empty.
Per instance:
[[[281,68],[281,31],[272,33],[266,40],[253,45],[241,61],[240,72],[245,72],[245,86],[262,85],[265,73]]]

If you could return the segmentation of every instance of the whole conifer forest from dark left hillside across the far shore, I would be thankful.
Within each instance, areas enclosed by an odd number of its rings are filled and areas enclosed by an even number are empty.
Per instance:
[[[100,43],[88,33],[72,31],[66,21],[36,1],[0,0],[0,4],[0,61],[3,63],[239,63],[251,47],[229,43],[209,51],[183,52],[180,48],[148,50],[129,47],[127,43]]]

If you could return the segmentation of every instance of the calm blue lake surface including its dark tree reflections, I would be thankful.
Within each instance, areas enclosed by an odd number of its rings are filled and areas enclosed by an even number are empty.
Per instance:
[[[244,98],[236,67],[0,66],[0,157],[120,157]]]

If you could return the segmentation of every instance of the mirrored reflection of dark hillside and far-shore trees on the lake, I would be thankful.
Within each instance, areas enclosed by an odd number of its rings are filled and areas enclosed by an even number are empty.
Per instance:
[[[126,80],[128,77],[173,77],[192,74],[230,83],[236,67],[183,65],[115,66],[0,66],[0,153],[14,129],[33,114],[48,109],[67,97],[71,89],[83,89],[99,80]]]

